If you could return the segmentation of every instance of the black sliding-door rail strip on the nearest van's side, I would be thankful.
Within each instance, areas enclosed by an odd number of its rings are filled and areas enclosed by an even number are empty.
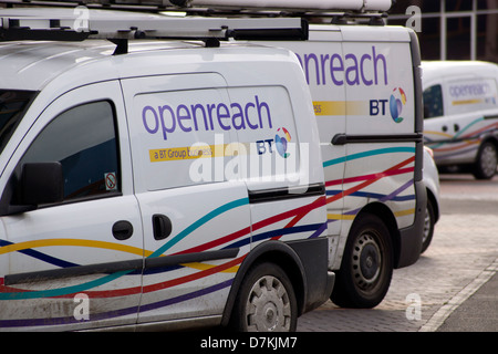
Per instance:
[[[325,185],[322,183],[308,186],[249,190],[249,204],[307,198],[312,196],[321,196],[324,194]]]

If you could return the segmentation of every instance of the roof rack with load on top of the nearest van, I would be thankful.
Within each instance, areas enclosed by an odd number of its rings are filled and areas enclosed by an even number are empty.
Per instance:
[[[87,11],[86,13],[76,10]],[[83,17],[82,17],[83,15]],[[175,18],[106,10],[0,9],[0,41],[83,41],[106,39],[127,51],[128,40],[201,40],[218,46],[222,40],[307,40],[308,22],[300,18]]]

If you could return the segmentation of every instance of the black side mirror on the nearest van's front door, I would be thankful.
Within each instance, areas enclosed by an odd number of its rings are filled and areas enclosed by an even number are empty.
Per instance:
[[[60,163],[32,163],[22,165],[19,186],[19,204],[39,206],[61,202],[64,183]]]

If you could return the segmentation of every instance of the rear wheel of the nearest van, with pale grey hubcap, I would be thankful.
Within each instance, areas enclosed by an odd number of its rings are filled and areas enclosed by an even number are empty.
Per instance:
[[[298,303],[292,283],[277,264],[253,266],[236,298],[230,327],[238,332],[294,332]]]

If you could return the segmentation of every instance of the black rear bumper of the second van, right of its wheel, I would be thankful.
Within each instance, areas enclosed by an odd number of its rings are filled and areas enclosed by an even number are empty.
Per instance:
[[[415,220],[408,228],[400,230],[400,252],[394,268],[403,268],[415,263],[422,251],[422,237],[424,233],[425,209],[427,206],[427,191],[424,181],[415,183],[417,205]]]

